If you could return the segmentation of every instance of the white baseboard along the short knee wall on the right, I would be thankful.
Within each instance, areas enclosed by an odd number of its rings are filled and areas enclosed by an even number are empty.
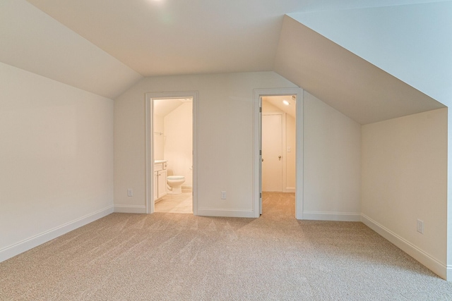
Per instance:
[[[381,224],[370,219],[369,216],[362,214],[361,221],[362,223],[364,223],[364,225],[368,226],[373,231],[383,236],[383,238],[386,238],[387,240],[392,242],[394,245],[400,248],[400,250],[403,250],[403,252],[407,253],[424,266],[427,266],[427,268],[432,270],[436,275],[448,281],[452,281],[452,266],[446,266],[446,264],[442,264],[434,257],[420,250],[420,248],[412,245],[412,243],[408,240],[401,238],[399,235],[393,233],[388,228],[385,228]]]

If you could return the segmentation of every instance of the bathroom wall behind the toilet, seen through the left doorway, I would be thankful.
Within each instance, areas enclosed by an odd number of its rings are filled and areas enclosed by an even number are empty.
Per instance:
[[[185,102],[164,118],[165,148],[164,156],[168,160],[168,176],[184,176],[184,188],[191,188],[193,154],[193,111],[192,103]]]

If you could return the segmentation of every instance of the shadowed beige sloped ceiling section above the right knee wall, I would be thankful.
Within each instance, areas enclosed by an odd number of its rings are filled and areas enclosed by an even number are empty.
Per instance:
[[[289,16],[275,71],[361,124],[444,108]]]

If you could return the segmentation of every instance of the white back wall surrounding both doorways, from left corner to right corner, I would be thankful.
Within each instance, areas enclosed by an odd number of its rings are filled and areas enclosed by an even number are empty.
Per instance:
[[[115,210],[145,212],[145,93],[198,91],[198,214],[252,216],[256,87],[294,85],[273,72],[167,76],[115,99]],[[361,125],[305,92],[304,218],[360,219],[360,152]]]

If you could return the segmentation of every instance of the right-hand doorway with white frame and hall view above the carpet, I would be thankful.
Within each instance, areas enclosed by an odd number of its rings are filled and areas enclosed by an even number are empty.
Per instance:
[[[254,107],[255,217],[262,214],[262,193],[295,192],[295,217],[302,219],[302,90],[254,90]]]

